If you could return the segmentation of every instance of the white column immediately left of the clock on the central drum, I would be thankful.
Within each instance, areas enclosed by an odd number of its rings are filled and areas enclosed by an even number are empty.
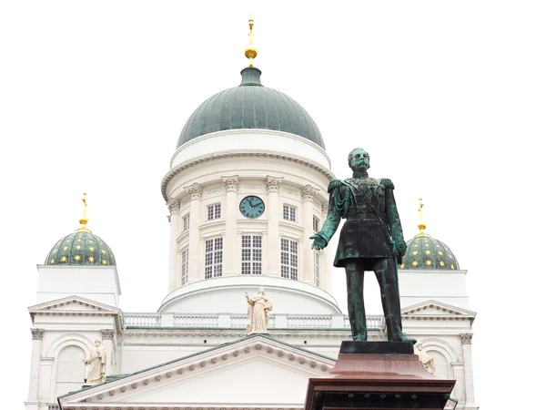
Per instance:
[[[224,213],[226,237],[224,239],[222,276],[231,276],[237,274],[238,261],[240,259],[237,253],[238,175],[222,177],[222,179],[226,188],[226,211]]]

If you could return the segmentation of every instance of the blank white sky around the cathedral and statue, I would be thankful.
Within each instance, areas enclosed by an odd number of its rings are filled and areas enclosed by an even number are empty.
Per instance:
[[[308,110],[334,173],[348,177],[349,150],[367,149],[370,175],[396,185],[406,239],[422,197],[427,231],[469,271],[480,408],[531,408],[535,349],[543,356],[531,326],[544,316],[543,2],[324,4],[0,5],[5,408],[27,397],[35,265],[78,227],[82,192],[88,227],[115,252],[122,309],[155,312],[167,294],[160,182],[193,110],[238,85],[250,12],[262,83]],[[369,313],[380,313],[374,289]]]

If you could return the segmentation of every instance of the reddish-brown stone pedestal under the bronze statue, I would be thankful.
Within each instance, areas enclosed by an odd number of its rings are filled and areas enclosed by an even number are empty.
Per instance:
[[[424,368],[412,343],[343,342],[329,374],[309,379],[305,410],[442,410],[454,386]]]

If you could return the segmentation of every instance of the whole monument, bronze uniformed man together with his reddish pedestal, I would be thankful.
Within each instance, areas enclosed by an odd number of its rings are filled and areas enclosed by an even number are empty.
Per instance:
[[[322,229],[310,238],[323,249],[339,234],[334,266],[345,268],[353,341],[341,343],[338,362],[326,377],[311,378],[306,410],[443,409],[454,380],[430,374],[414,354],[417,341],[402,332],[397,264],[406,251],[390,179],[369,178],[369,154],[349,153],[353,177],[329,184],[329,210]],[[381,290],[388,342],[368,342],[364,272],[375,272]]]

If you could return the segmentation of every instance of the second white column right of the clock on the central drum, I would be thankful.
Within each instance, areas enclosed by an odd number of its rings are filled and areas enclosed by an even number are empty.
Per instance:
[[[313,284],[315,275],[315,254],[311,249],[309,236],[313,235],[313,200],[317,190],[310,185],[301,189],[301,200],[303,200],[303,211],[301,220],[303,222],[303,241],[301,243],[301,281]]]

